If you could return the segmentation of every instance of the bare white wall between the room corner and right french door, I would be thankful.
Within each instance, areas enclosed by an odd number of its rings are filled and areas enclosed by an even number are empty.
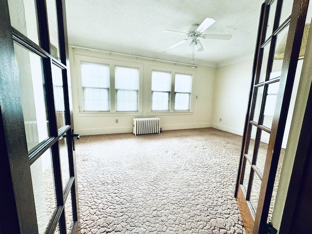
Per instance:
[[[248,60],[217,69],[213,127],[243,135],[252,68]]]

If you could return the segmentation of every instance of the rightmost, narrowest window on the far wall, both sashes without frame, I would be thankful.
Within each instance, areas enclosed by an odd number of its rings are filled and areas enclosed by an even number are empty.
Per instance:
[[[175,79],[175,111],[190,110],[192,91],[192,75],[176,74]]]

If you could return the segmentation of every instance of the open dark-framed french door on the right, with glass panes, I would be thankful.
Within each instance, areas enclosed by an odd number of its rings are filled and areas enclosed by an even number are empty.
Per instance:
[[[300,56],[309,0],[262,5],[235,197],[243,195],[252,233],[268,233],[276,169]]]

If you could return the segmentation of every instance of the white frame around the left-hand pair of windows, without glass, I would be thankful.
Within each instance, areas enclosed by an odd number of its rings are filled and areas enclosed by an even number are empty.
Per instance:
[[[142,103],[143,103],[143,64],[117,61],[112,59],[103,59],[97,57],[90,57],[84,55],[75,55],[75,71],[77,78],[77,96],[78,96],[78,115],[79,116],[118,116],[118,115],[129,115],[129,116],[141,116],[142,115]],[[88,111],[83,110],[83,88],[81,79],[81,63],[96,63],[109,65],[110,73],[110,87],[109,87],[109,99],[110,99],[110,111]],[[128,67],[138,69],[139,74],[139,85],[138,85],[138,111],[116,111],[116,89],[115,89],[115,67]]]

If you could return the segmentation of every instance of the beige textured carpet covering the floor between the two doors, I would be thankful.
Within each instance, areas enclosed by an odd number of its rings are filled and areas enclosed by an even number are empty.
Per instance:
[[[82,234],[242,234],[241,137],[213,128],[81,137]]]

